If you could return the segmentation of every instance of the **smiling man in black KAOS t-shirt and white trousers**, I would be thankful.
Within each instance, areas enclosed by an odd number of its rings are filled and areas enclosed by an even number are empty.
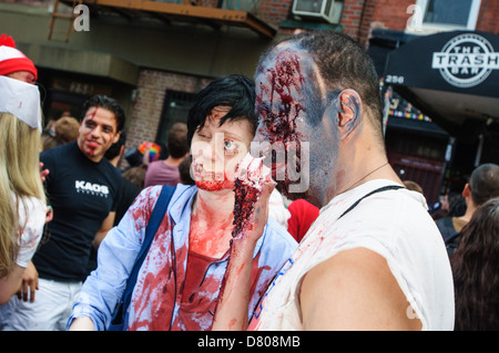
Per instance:
[[[78,141],[40,155],[50,172],[45,190],[53,219],[32,260],[40,278],[35,300],[16,303],[9,330],[64,330],[91,248],[114,225],[122,177],[104,154],[123,125],[124,112],[114,100],[93,96],[83,104]]]

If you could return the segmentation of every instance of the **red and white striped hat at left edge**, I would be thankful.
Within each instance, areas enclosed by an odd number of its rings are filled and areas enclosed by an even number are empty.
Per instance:
[[[21,51],[16,49],[12,37],[2,34],[0,37],[0,75],[4,76],[17,71],[28,71],[38,79],[38,71],[33,62]]]

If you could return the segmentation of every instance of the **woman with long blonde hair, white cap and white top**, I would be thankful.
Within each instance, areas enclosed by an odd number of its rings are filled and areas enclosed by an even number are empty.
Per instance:
[[[38,87],[0,76],[0,304],[20,290],[45,222],[40,133]]]

